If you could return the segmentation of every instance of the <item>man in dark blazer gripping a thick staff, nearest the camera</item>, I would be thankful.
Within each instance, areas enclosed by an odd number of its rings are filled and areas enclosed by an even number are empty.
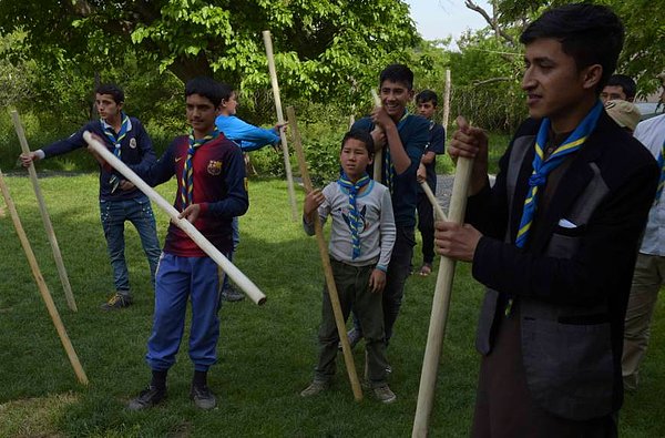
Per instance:
[[[613,437],[623,319],[658,169],[605,113],[623,26],[607,8],[552,9],[521,35],[530,119],[488,181],[488,137],[458,120],[473,157],[468,224],[437,223],[441,255],[488,287],[474,437]]]

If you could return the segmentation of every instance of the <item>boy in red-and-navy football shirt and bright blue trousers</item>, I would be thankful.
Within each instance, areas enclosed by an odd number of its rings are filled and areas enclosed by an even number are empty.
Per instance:
[[[217,248],[233,247],[231,222],[249,206],[241,150],[215,128],[222,102],[221,86],[209,78],[185,85],[187,121],[192,133],[176,137],[157,163],[140,172],[149,184],[177,179],[174,206]],[[187,301],[192,302],[190,358],[194,378],[190,397],[196,407],[212,409],[215,395],[207,371],[217,361],[221,272],[216,263],[173,223],[160,258],[153,328],[146,361],[152,369],[147,389],[130,401],[131,410],[154,406],[166,397],[166,374],[175,364],[183,338]]]

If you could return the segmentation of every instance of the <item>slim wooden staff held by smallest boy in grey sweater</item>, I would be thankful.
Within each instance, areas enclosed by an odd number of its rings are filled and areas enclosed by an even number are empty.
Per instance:
[[[293,106],[286,109],[288,115],[288,124],[294,135],[294,147],[296,150],[296,156],[298,157],[298,165],[300,166],[300,175],[303,176],[303,185],[307,193],[311,192],[311,180],[309,179],[309,172],[307,171],[307,162],[305,161],[305,153],[303,152],[303,142],[300,141],[300,133],[298,132],[298,121],[296,120],[296,111]],[[344,314],[339,304],[339,295],[337,294],[337,286],[335,285],[335,278],[332,277],[332,267],[330,266],[330,256],[328,255],[328,245],[324,238],[324,228],[319,221],[318,212],[314,214],[314,230],[316,233],[316,241],[318,243],[319,253],[321,256],[321,264],[324,265],[324,275],[326,276],[326,285],[328,286],[328,295],[330,296],[330,304],[332,305],[332,314],[335,315],[335,325],[337,325],[337,333],[339,334],[339,342],[341,343],[341,352],[344,354],[344,363],[351,381],[351,389],[354,390],[354,397],[357,401],[362,400],[362,389],[360,389],[360,383],[358,381],[358,374],[356,373],[356,364],[354,363],[354,355],[351,353],[351,346],[346,334],[346,324],[344,320]]]

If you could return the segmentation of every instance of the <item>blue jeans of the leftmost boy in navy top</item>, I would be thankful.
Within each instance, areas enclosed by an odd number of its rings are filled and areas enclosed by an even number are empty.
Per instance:
[[[130,275],[124,257],[124,223],[130,221],[141,238],[141,245],[150,265],[150,278],[154,288],[155,271],[160,259],[160,241],[155,216],[146,196],[131,200],[106,201],[100,200],[100,217],[106,237],[106,249],[113,268],[113,283],[115,291],[122,295],[130,295]]]

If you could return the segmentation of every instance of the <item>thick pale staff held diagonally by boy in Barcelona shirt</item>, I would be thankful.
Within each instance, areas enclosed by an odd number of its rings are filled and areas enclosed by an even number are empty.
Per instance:
[[[228,261],[217,249],[194,225],[190,223],[190,221],[185,218],[178,218],[178,211],[175,210],[168,201],[164,200],[153,187],[147,185],[145,181],[141,180],[139,175],[134,173],[125,163],[120,161],[115,155],[113,155],[105,145],[103,145],[99,140],[96,140],[92,134],[88,131],[83,133],[83,139],[88,142],[90,147],[92,147],[98,154],[100,154],[106,163],[109,163],[113,169],[117,172],[122,173],[124,177],[131,181],[141,192],[145,193],[147,197],[151,198],[152,202],[157,204],[168,216],[171,217],[171,222],[173,222],[176,226],[178,226],[182,231],[194,241],[196,245],[204,253],[206,253],[212,259],[222,267],[222,271],[233,279],[233,282],[241,288],[243,292],[252,299],[254,303],[262,305],[266,302],[266,296],[263,292],[258,289],[258,287],[249,279],[245,274],[241,272],[233,263]]]

